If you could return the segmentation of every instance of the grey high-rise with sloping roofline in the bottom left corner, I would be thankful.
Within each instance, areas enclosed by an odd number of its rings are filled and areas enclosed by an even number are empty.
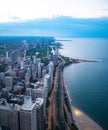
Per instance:
[[[5,99],[0,100],[0,127],[2,130],[19,130],[18,112]]]

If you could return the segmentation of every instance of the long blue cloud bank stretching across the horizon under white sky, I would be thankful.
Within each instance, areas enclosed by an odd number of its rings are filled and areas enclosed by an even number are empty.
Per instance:
[[[17,19],[17,18],[15,18]],[[108,18],[55,17],[0,24],[0,35],[108,37]]]

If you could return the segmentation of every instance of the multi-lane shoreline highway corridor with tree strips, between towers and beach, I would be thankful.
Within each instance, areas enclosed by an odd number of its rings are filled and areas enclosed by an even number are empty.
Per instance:
[[[72,61],[59,56],[52,90],[48,94],[45,118],[46,130],[78,130],[72,116],[71,98],[64,86],[63,69]]]

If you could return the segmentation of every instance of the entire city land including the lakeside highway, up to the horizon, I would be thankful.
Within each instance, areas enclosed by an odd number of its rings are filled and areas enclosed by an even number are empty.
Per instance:
[[[1,130],[77,129],[62,74],[72,61],[60,46],[53,37],[0,38]]]

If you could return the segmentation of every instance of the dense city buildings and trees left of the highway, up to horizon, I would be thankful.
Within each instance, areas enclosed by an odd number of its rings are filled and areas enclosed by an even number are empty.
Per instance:
[[[52,88],[53,68],[58,62],[56,49],[53,54],[51,52],[51,41],[56,48],[55,40],[51,37],[24,39],[7,38],[4,42],[0,38],[0,50],[7,46],[0,53],[0,130],[15,130],[15,127],[16,130],[47,129],[44,125],[47,123],[47,98]],[[50,50],[48,54],[47,49]],[[15,62],[19,80],[12,68]]]

